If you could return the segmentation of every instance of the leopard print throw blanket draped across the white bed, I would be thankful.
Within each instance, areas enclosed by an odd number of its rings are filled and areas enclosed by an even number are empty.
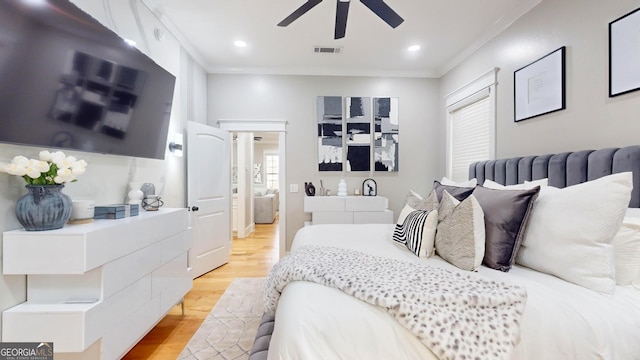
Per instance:
[[[275,314],[287,283],[330,286],[386,309],[439,359],[509,359],[527,299],[523,287],[426,264],[335,247],[304,246],[267,278],[265,311]]]

